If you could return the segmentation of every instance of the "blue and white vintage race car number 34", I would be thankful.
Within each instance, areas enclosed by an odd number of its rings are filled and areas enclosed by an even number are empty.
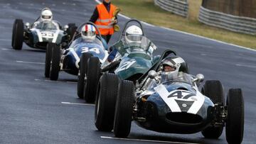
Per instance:
[[[80,75],[80,67],[86,67],[86,57],[94,56],[99,58],[100,62],[104,62],[107,58],[107,43],[97,35],[95,40],[87,41],[81,37],[81,28],[85,24],[95,26],[93,23],[82,23],[75,31],[73,38],[68,46],[68,49],[63,48],[63,45],[50,43],[46,50],[46,68],[45,76],[51,80],[57,80],[60,71],[65,71],[69,74]],[[100,31],[95,26],[98,33]],[[87,59],[87,58],[86,58]]]

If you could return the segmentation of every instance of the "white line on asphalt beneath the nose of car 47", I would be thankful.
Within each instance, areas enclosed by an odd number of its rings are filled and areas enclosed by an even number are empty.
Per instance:
[[[100,138],[107,138],[107,139],[114,139],[114,140],[144,141],[144,142],[154,142],[154,143],[198,144],[198,143],[183,143],[183,142],[172,142],[172,141],[163,141],[163,140],[143,140],[143,139],[134,139],[134,138],[114,138],[114,137],[108,137],[108,136],[100,136]]]

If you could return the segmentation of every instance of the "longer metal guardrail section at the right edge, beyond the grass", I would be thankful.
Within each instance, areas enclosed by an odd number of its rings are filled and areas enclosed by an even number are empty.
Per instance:
[[[218,11],[211,11],[201,6],[198,20],[209,26],[256,35],[256,18],[233,16]]]

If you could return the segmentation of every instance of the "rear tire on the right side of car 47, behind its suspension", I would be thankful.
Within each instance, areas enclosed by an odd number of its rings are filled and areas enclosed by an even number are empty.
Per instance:
[[[220,81],[210,80],[206,81],[202,88],[202,94],[208,96],[213,104],[222,104],[224,106],[224,90],[223,84]],[[202,131],[205,138],[218,139],[223,133],[223,126],[208,126]]]

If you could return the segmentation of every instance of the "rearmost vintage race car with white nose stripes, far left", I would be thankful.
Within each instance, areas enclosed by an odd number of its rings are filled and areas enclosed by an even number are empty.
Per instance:
[[[21,50],[23,42],[31,48],[46,49],[48,43],[68,42],[75,31],[75,23],[69,23],[61,28],[58,21],[35,21],[26,23],[24,27],[21,19],[14,21],[11,46],[14,50]]]

